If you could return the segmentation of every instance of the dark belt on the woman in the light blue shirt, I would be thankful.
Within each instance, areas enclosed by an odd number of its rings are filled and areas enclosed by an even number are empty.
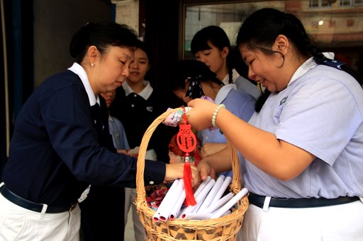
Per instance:
[[[250,193],[248,195],[248,201],[250,204],[254,204],[259,208],[264,207],[264,200],[266,196],[259,196],[257,194]],[[358,201],[358,196],[340,196],[336,199],[325,199],[320,197],[319,199],[284,199],[284,198],[274,198],[272,197],[269,201],[269,206],[277,208],[317,208],[321,206],[333,206],[339,204],[348,204],[352,201]]]

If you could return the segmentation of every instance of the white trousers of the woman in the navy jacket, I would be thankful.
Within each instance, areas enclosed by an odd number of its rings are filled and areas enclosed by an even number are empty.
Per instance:
[[[13,204],[0,194],[0,240],[79,241],[80,210],[38,213]]]

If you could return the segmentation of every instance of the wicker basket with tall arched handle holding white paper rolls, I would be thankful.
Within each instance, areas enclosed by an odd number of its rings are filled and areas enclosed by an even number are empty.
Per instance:
[[[150,141],[152,133],[157,125],[162,123],[169,114],[180,110],[167,110],[157,117],[145,131],[143,140],[140,144],[138,155],[138,165],[136,174],[137,196],[135,199],[136,208],[141,223],[143,223],[148,240],[235,240],[238,231],[241,228],[243,217],[248,207],[247,196],[244,196],[237,204],[237,208],[232,213],[220,218],[206,219],[202,221],[183,220],[180,218],[167,222],[155,222],[153,216],[155,211],[147,206],[145,199],[144,169],[145,169],[145,153],[147,143]],[[230,191],[237,194],[241,190],[240,184],[240,166],[238,154],[235,147],[228,141],[233,160],[233,178],[230,184]]]

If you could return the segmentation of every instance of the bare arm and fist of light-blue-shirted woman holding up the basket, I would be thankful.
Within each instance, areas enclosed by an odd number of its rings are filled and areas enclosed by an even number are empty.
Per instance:
[[[218,105],[201,99],[188,103],[188,122],[201,130],[212,126],[213,113]],[[238,151],[260,170],[279,180],[291,180],[311,164],[315,156],[268,132],[248,124],[225,108],[216,117],[217,126]],[[256,151],[257,146],[262,146]]]

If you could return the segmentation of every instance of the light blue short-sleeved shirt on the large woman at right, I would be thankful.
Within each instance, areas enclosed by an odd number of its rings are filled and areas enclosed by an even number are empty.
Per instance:
[[[286,198],[363,195],[363,90],[345,71],[308,59],[250,124],[316,156],[301,175],[286,182],[242,162],[250,192]]]

